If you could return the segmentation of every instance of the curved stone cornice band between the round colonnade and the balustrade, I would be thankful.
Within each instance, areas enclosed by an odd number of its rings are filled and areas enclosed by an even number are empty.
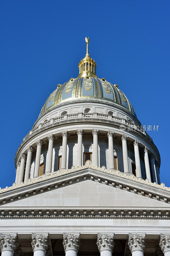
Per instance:
[[[106,115],[108,116],[108,115]],[[50,123],[50,122],[49,122]],[[46,132],[51,132],[54,129],[59,129],[62,127],[68,127],[68,126],[73,126],[73,125],[100,125],[100,126],[106,126],[106,127],[112,127],[112,128],[119,128],[120,124],[123,124],[124,127],[126,127],[126,132],[129,133],[129,137],[131,136],[131,134],[133,134],[134,136],[138,136],[138,138],[141,138],[142,140],[144,140],[149,146],[150,148],[153,149],[153,151],[155,152],[155,155],[158,159],[159,162],[159,166],[160,166],[160,155],[159,155],[159,151],[157,149],[157,147],[155,146],[155,144],[153,143],[153,141],[147,137],[145,134],[143,134],[142,132],[138,131],[138,130],[134,130],[134,131],[128,131],[129,126],[125,123],[121,123],[121,122],[117,122],[114,120],[109,120],[109,119],[97,119],[97,118],[74,118],[74,119],[69,119],[69,120],[63,120],[57,123],[52,123],[52,124],[48,124],[45,127],[42,127],[41,129],[36,130],[35,132],[33,132],[32,134],[30,134],[25,140],[22,141],[22,143],[20,144],[20,146],[18,147],[18,150],[16,152],[15,155],[15,165],[18,161],[18,156],[20,156],[20,154],[22,153],[21,150],[22,148],[27,145],[30,144],[30,142],[34,139],[36,139],[36,137],[43,135]],[[68,130],[68,129],[67,129]],[[122,134],[120,132],[120,134]]]

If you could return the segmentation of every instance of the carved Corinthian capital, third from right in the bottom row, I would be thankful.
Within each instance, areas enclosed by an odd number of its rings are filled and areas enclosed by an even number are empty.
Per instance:
[[[112,252],[114,245],[115,245],[114,233],[112,234],[97,233],[97,246],[98,246],[99,252],[103,250],[108,250]]]

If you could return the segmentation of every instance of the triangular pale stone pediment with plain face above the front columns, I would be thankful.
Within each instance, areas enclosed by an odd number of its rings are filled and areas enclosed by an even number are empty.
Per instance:
[[[0,200],[4,212],[167,216],[170,192],[88,167],[3,192]]]

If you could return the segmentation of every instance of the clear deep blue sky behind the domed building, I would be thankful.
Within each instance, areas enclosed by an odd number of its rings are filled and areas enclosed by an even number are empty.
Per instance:
[[[57,84],[78,76],[89,53],[97,76],[127,95],[161,156],[170,186],[170,1],[0,1],[1,179],[15,181],[18,146]]]

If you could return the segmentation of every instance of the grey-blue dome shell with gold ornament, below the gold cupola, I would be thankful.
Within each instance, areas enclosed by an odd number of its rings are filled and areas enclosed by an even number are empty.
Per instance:
[[[88,73],[88,72],[87,72]],[[90,74],[91,73],[91,74]],[[111,84],[105,78],[97,78],[90,72],[86,77],[71,78],[64,84],[58,84],[57,89],[49,95],[43,105],[39,117],[47,110],[56,107],[67,100],[100,99],[119,104],[136,116],[134,109],[126,95],[118,88],[117,84]],[[94,73],[94,72],[93,72]]]

